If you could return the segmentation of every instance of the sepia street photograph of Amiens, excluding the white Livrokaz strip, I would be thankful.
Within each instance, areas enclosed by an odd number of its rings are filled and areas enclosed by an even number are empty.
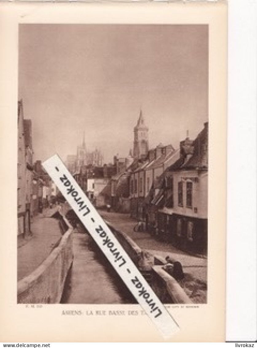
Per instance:
[[[163,303],[207,303],[208,25],[20,24],[18,303],[134,304],[58,153]]]

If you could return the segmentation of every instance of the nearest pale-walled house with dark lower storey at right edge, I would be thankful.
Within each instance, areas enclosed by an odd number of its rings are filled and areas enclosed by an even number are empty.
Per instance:
[[[208,122],[194,141],[180,143],[180,159],[164,175],[158,235],[178,248],[207,253]]]

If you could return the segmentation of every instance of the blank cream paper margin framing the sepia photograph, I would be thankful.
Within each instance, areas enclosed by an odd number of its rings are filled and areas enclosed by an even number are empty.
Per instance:
[[[208,304],[172,308],[180,325],[171,342],[225,340],[227,7],[219,4],[0,5],[0,341],[163,342],[145,315],[86,315],[96,309],[141,310],[138,305],[16,304],[17,294],[17,60],[18,23],[209,24]],[[63,309],[83,316],[62,316]]]

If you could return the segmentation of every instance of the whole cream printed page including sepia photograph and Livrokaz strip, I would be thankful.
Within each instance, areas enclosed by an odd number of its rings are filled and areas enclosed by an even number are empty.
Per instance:
[[[226,3],[0,23],[1,340],[224,342]]]

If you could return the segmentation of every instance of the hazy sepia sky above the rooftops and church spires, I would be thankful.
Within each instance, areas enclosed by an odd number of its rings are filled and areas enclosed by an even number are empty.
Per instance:
[[[149,145],[194,138],[208,119],[207,25],[19,26],[19,98],[34,160],[126,156],[142,107]]]

